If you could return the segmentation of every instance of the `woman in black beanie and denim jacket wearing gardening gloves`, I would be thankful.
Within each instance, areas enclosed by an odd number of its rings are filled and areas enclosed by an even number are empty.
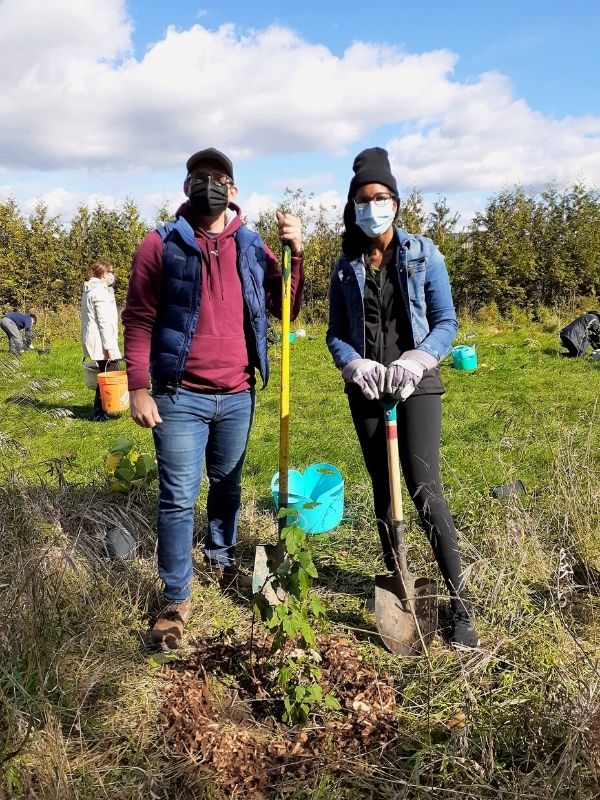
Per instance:
[[[342,254],[331,276],[327,346],[346,382],[386,567],[395,571],[385,422],[378,400],[391,396],[399,400],[404,479],[450,594],[450,643],[477,647],[456,528],[439,474],[444,392],[439,362],[458,327],[448,273],[431,239],[394,226],[398,187],[387,152],[363,150],[353,170]]]

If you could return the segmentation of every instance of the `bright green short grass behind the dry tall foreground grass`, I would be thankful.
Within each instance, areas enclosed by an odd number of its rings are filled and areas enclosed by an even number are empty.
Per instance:
[[[585,445],[597,421],[600,381],[600,363],[559,357],[555,333],[472,323],[462,326],[457,343],[461,341],[476,346],[480,366],[475,372],[460,372],[450,358],[442,364],[447,388],[443,477],[457,510],[468,505],[474,493],[487,494],[503,481],[520,478],[530,491],[543,488],[561,437],[569,432],[575,447]],[[291,354],[291,466],[335,464],[346,477],[352,499],[357,484],[363,492],[366,473],[323,330],[310,330],[307,339],[292,345]],[[275,348],[271,362],[269,386],[257,392],[244,481],[247,493],[263,500],[269,498],[278,463]],[[90,483],[102,471],[104,453],[117,438],[127,437],[142,450],[152,449],[150,432],[138,428],[126,414],[105,425],[88,421],[93,394],[83,385],[75,341],[55,341],[50,355],[30,352],[19,362],[8,361],[4,354],[0,370],[0,431],[8,439],[10,466],[18,472],[39,472],[43,462],[70,453],[78,481]],[[74,417],[53,418],[61,409]],[[4,469],[8,465],[5,460]]]

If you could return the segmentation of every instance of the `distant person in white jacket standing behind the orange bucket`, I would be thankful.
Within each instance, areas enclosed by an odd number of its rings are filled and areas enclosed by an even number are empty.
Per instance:
[[[100,372],[118,369],[121,358],[119,350],[119,314],[113,284],[114,267],[108,261],[98,259],[87,270],[87,280],[81,295],[81,346],[84,357],[98,364]],[[92,420],[105,422],[110,419],[102,407],[100,388],[96,389]]]

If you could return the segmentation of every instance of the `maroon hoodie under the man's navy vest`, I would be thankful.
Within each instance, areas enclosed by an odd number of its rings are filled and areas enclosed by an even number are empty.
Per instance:
[[[188,222],[189,203],[177,216]],[[194,230],[202,251],[202,281],[198,323],[182,375],[182,385],[206,392],[240,392],[254,384],[253,348],[248,348],[242,284],[237,268],[235,231],[240,210],[230,204],[224,230],[218,234]],[[281,317],[281,270],[265,245],[267,309]],[[133,258],[127,303],[123,311],[125,361],[129,389],[148,386],[150,346],[162,285],[163,243],[152,231]],[[304,272],[302,256],[292,257],[292,319],[300,311]]]

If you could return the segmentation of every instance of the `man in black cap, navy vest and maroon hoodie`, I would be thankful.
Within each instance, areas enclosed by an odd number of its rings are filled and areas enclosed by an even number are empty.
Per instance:
[[[186,164],[188,197],[133,259],[122,315],[131,415],[152,428],[159,469],[158,571],[166,608],[155,646],[177,647],[190,617],[194,505],[206,461],[205,560],[221,587],[246,588],[234,564],[254,373],[268,380],[266,311],[281,314],[281,271],[235,205],[233,165],[208,148]],[[277,212],[292,251],[292,317],[304,274],[300,221]],[[148,391],[148,371],[152,394]]]

